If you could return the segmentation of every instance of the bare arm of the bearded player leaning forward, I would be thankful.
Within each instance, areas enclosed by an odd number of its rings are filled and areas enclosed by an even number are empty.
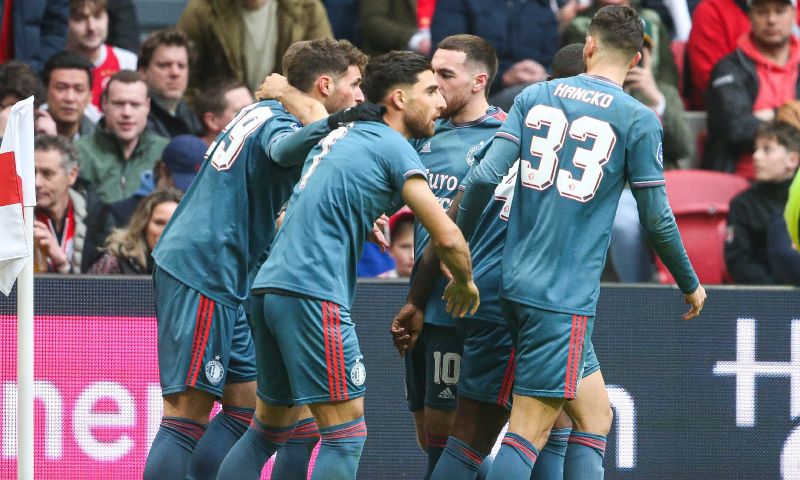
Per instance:
[[[478,289],[472,281],[472,260],[461,231],[444,213],[428,182],[421,176],[406,180],[403,200],[414,211],[431,236],[431,244],[439,258],[452,272],[453,282],[445,290],[447,311],[463,317],[475,313],[480,304]]]

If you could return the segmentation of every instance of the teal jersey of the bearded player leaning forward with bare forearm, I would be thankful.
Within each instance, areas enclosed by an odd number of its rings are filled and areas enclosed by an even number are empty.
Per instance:
[[[409,142],[377,122],[340,127],[317,145],[253,289],[278,289],[350,307],[356,263],[372,224],[397,208],[407,178],[425,176]]]

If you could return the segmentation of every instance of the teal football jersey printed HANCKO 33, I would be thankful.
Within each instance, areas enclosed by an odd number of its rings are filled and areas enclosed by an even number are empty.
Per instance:
[[[525,89],[496,138],[518,145],[520,159],[502,297],[594,315],[625,183],[664,184],[658,118],[618,85],[582,74]],[[491,163],[474,176],[498,175],[490,175]]]

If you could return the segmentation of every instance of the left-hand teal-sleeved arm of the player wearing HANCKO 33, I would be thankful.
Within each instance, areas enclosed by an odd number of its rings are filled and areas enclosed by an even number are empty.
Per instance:
[[[515,140],[505,136],[495,137],[486,156],[464,184],[457,224],[467,239],[472,238],[497,184],[519,158],[519,143]]]

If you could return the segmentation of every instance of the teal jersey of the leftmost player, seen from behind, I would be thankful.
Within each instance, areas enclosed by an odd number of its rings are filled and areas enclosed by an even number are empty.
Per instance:
[[[299,128],[276,101],[243,109],[209,147],[153,252],[156,264],[214,301],[245,301],[302,169],[281,167],[269,152]]]

